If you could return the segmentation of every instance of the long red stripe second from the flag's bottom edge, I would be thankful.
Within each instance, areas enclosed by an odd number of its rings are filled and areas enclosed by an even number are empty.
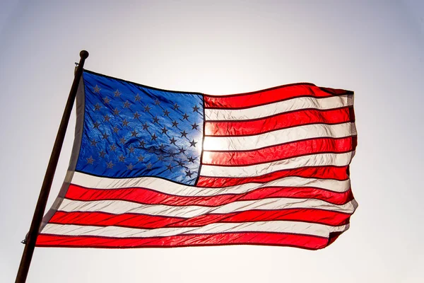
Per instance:
[[[252,221],[306,221],[340,226],[348,224],[351,214],[322,209],[248,210],[228,214],[205,214],[192,218],[146,214],[110,214],[105,212],[56,212],[49,223],[90,226],[121,226],[137,229],[199,227],[213,223],[242,223]]]

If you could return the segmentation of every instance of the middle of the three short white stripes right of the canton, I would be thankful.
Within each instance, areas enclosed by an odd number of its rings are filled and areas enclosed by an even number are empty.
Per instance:
[[[355,134],[354,123],[338,125],[303,125],[245,137],[204,137],[205,151],[242,151],[261,149],[286,142],[319,137],[349,137]]]

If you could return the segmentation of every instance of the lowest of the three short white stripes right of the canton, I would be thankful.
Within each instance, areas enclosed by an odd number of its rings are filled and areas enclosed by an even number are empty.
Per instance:
[[[346,166],[351,162],[353,152],[345,154],[311,154],[281,161],[249,166],[201,166],[200,175],[208,177],[255,177],[275,171],[310,166]]]

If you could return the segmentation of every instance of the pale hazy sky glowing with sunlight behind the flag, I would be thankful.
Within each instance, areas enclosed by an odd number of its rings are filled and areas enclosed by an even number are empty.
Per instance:
[[[424,1],[0,1],[0,282],[13,282],[74,62],[208,94],[355,91],[359,207],[323,250],[36,248],[27,282],[423,282]],[[71,155],[75,113],[47,203]]]

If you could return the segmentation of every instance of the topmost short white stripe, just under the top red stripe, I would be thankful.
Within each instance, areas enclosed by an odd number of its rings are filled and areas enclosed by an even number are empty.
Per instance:
[[[329,98],[293,98],[290,100],[238,110],[205,108],[205,120],[249,120],[268,117],[293,110],[311,108],[328,110],[332,108],[341,108],[353,105],[353,99],[349,99],[348,97],[349,96],[346,95],[332,96]]]

